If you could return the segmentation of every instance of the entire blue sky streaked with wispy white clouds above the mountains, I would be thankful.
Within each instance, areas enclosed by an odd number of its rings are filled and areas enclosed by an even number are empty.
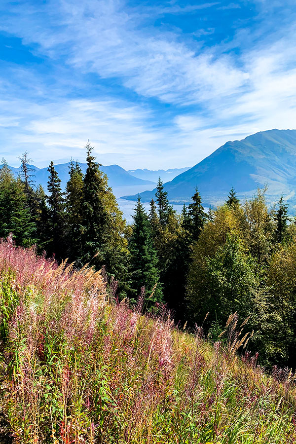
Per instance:
[[[0,3],[0,154],[192,166],[296,128],[295,0]]]

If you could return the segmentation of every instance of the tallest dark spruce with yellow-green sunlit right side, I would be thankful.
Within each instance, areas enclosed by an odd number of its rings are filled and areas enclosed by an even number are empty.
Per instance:
[[[93,148],[89,143],[86,150],[87,170],[83,178],[81,225],[76,221],[78,231],[81,229],[79,261],[82,264],[90,263],[97,269],[105,265],[108,276],[113,276],[118,281],[119,290],[125,292],[128,287],[129,256],[125,221],[112,189],[108,186],[107,176],[92,156]],[[80,248],[79,245],[77,247]]]

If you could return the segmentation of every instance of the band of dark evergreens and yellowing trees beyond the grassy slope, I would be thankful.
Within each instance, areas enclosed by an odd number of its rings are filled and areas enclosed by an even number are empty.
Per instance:
[[[283,197],[268,209],[265,189],[240,202],[232,188],[205,212],[196,188],[177,214],[159,179],[149,212],[139,197],[128,225],[92,150],[88,143],[85,175],[71,161],[65,191],[53,162],[45,193],[27,153],[17,178],[3,161],[0,237],[12,232],[17,245],[76,267],[104,266],[113,296],[140,297],[149,311],[166,303],[177,322],[203,325],[214,341],[237,312],[249,318],[249,348],[264,366],[296,367],[296,223]]]

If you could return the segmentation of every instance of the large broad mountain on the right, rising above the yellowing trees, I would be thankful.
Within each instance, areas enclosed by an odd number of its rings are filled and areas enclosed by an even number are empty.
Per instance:
[[[164,187],[172,203],[188,203],[197,186],[208,206],[222,203],[231,186],[244,199],[265,184],[267,201],[278,200],[282,193],[296,200],[296,130],[273,129],[227,142]],[[148,202],[154,193],[155,189],[141,193],[142,200]]]

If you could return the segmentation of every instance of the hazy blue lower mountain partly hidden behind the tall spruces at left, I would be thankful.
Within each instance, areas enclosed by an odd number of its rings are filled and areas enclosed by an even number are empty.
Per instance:
[[[86,163],[80,163],[79,164],[83,173],[86,172]],[[59,178],[62,181],[62,188],[65,189],[67,181],[69,180],[69,166],[70,162],[68,163],[61,163],[59,165],[55,165],[55,169],[59,175]],[[32,173],[35,175],[33,178],[36,182],[36,184],[41,184],[43,188],[47,189],[47,181],[48,181],[48,171],[46,168],[37,168],[34,165],[31,165],[33,169],[35,169],[35,172]],[[9,167],[12,172],[17,176],[20,172],[20,168],[14,168]],[[139,178],[136,178],[129,174],[127,171],[125,171],[123,168],[121,168],[119,165],[108,165],[108,166],[101,166],[100,169],[107,174],[109,179],[109,185],[112,187],[119,187],[119,186],[131,186],[131,185],[151,185],[153,182],[150,182],[148,180],[142,180]],[[153,185],[152,185],[153,186]],[[143,188],[142,188],[143,189]]]

